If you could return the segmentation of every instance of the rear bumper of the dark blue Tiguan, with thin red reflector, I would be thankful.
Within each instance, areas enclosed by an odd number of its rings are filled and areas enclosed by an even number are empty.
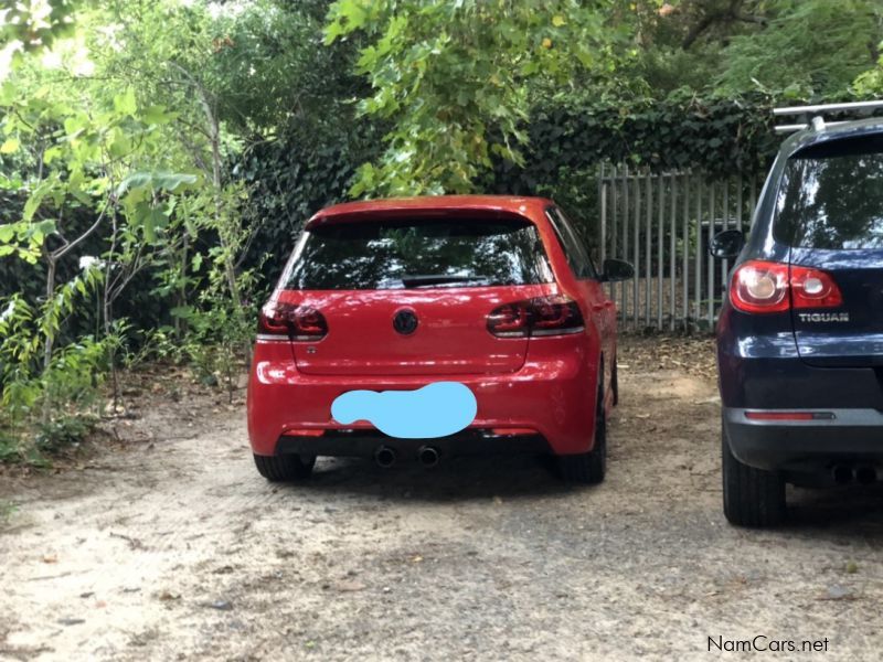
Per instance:
[[[785,413],[815,418],[769,419]],[[748,418],[752,414],[768,418]],[[838,461],[883,460],[883,413],[877,409],[724,407],[723,419],[733,455],[758,469],[813,471]]]

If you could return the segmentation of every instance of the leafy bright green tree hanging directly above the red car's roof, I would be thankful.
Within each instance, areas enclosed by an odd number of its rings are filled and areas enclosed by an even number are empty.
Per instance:
[[[609,76],[623,36],[613,2],[340,0],[326,43],[366,40],[358,67],[373,94],[362,113],[387,121],[386,149],[361,167],[353,195],[466,192],[498,156],[522,162],[534,84]]]

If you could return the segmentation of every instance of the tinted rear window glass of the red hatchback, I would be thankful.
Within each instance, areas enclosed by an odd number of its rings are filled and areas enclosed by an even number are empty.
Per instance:
[[[394,218],[307,232],[286,288],[449,288],[552,280],[540,236],[528,221]]]

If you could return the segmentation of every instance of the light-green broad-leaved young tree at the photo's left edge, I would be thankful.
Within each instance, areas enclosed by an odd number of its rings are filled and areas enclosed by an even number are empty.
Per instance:
[[[42,267],[44,280],[39,306],[21,296],[11,299],[0,363],[4,406],[29,412],[40,399],[41,421],[46,425],[60,404],[54,385],[65,381],[61,376],[70,377],[71,370],[92,374],[96,367],[75,361],[71,346],[56,352],[64,320],[82,297],[103,282],[100,342],[110,350],[114,365],[117,328],[113,300],[129,281],[125,275],[139,264],[143,249],[135,246],[158,243],[168,224],[168,195],[196,178],[162,170],[167,161],[159,128],[169,116],[158,107],[140,107],[134,89],[98,95],[70,81],[42,84],[42,73],[33,60],[23,60],[14,77],[0,88],[0,132],[4,136],[0,152],[4,161],[15,158],[17,166],[14,177],[2,178],[0,186],[24,199],[21,215],[0,225],[0,257],[21,258],[34,265],[34,273]],[[79,223],[83,216],[89,218],[86,225]],[[84,255],[83,246],[96,235],[107,237],[108,249],[100,256]],[[60,284],[60,265],[77,257],[82,273]],[[29,324],[13,324],[22,319]],[[22,333],[29,340],[21,339]],[[34,353],[38,342],[39,360]],[[78,339],[73,346],[98,346],[94,338]],[[89,352],[83,354],[87,355]],[[96,357],[100,351],[92,355]],[[17,394],[24,399],[13,403],[10,398]]]

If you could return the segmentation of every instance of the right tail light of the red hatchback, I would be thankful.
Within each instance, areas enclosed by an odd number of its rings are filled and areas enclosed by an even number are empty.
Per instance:
[[[491,310],[488,331],[498,338],[563,335],[585,329],[576,301],[563,295],[535,297]]]

